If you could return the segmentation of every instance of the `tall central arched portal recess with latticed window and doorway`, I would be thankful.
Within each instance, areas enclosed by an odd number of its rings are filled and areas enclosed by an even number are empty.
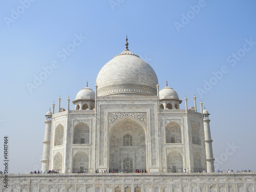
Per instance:
[[[124,173],[146,169],[146,134],[143,125],[130,117],[119,120],[110,130],[109,168]]]

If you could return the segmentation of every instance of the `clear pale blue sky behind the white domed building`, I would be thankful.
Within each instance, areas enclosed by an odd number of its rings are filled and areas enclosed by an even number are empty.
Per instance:
[[[103,65],[125,49],[126,34],[160,89],[168,80],[189,107],[194,94],[198,108],[202,99],[216,167],[256,170],[256,1],[28,2],[0,6],[0,138],[9,137],[11,173],[40,169],[53,100],[60,95],[66,109],[87,80],[94,89]],[[3,147],[0,153],[3,159]]]

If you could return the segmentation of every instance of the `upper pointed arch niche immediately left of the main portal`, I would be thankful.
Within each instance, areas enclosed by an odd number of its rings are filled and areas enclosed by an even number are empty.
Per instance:
[[[84,122],[79,122],[74,126],[73,144],[89,144],[90,127]]]

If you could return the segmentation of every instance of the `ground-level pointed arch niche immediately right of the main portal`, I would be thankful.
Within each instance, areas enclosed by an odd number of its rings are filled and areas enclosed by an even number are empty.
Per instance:
[[[167,172],[183,172],[183,155],[177,150],[171,150],[166,158]]]

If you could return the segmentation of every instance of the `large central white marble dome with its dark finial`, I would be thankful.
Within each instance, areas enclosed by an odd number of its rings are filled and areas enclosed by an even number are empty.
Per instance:
[[[138,55],[126,49],[106,63],[100,70],[96,83],[98,96],[107,95],[157,95],[158,79],[153,68]]]

